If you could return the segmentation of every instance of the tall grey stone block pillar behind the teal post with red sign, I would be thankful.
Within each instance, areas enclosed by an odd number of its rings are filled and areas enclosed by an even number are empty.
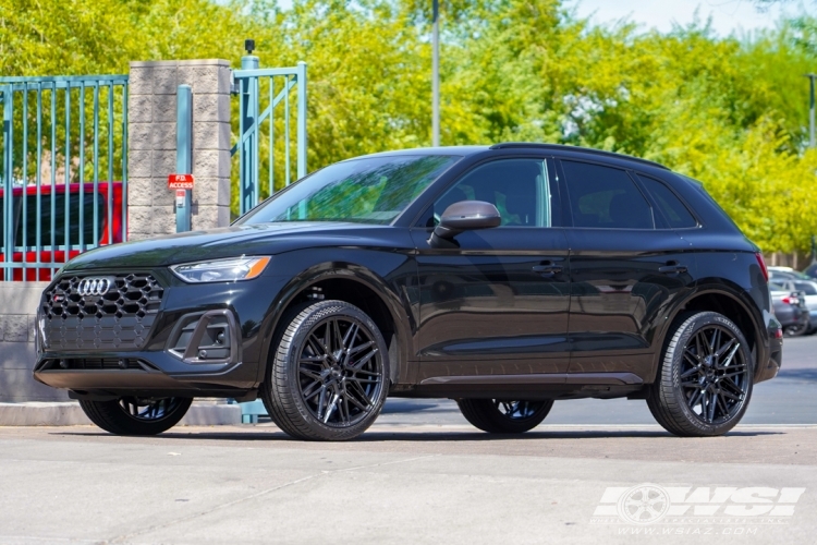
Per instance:
[[[230,225],[230,63],[131,62],[127,94],[129,240],[175,232],[176,88],[193,88],[193,229]]]

